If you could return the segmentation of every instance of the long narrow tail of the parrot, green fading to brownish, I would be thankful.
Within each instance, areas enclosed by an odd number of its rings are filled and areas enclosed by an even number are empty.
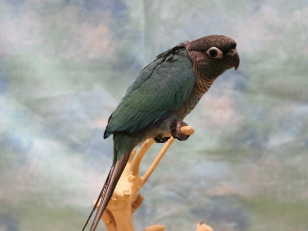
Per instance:
[[[101,200],[99,209],[97,213],[95,214],[93,223],[91,225],[90,231],[94,231],[97,227],[98,223],[100,222],[100,219],[104,213],[105,208],[108,205],[108,202],[113,194],[114,188],[117,185],[122,172],[127,164],[127,161],[129,159],[130,153],[132,149],[137,145],[137,140],[128,136],[127,134],[123,132],[117,132],[113,134],[113,163],[110,168],[108,177],[104,183],[104,186],[100,192],[100,195],[92,208],[92,211],[82,229],[82,231],[85,230],[95,208],[97,208],[97,205],[99,201]]]

